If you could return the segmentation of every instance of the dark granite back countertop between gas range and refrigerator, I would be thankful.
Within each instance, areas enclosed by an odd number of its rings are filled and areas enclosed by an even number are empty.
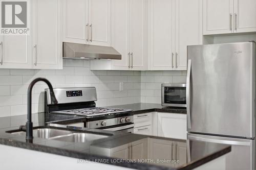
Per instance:
[[[131,109],[134,111],[134,114],[146,113],[146,112],[168,112],[168,113],[181,113],[186,114],[186,108],[177,108],[177,107],[164,107],[161,104],[155,103],[134,103],[128,105],[116,105],[108,106],[109,108],[117,109]]]

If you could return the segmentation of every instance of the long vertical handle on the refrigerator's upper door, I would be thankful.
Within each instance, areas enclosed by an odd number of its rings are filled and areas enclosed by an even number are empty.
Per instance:
[[[191,60],[187,61],[187,83],[186,83],[186,105],[187,105],[187,129],[191,129],[190,119],[190,74],[191,74]]]

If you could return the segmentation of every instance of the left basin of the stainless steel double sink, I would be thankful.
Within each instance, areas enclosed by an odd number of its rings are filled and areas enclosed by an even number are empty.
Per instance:
[[[56,136],[63,136],[72,134],[71,131],[66,130],[58,130],[58,129],[50,129],[50,128],[43,128],[43,129],[35,129],[33,130],[33,135],[35,137],[43,138],[43,139],[49,139]]]

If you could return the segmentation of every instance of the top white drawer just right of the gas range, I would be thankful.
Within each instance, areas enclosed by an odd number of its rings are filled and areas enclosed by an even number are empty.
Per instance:
[[[135,128],[152,125],[152,113],[143,113],[134,115]]]

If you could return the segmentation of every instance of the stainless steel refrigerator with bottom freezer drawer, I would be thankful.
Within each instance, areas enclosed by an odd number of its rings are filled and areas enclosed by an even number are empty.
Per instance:
[[[188,139],[231,144],[227,169],[255,168],[255,42],[187,46]]]

